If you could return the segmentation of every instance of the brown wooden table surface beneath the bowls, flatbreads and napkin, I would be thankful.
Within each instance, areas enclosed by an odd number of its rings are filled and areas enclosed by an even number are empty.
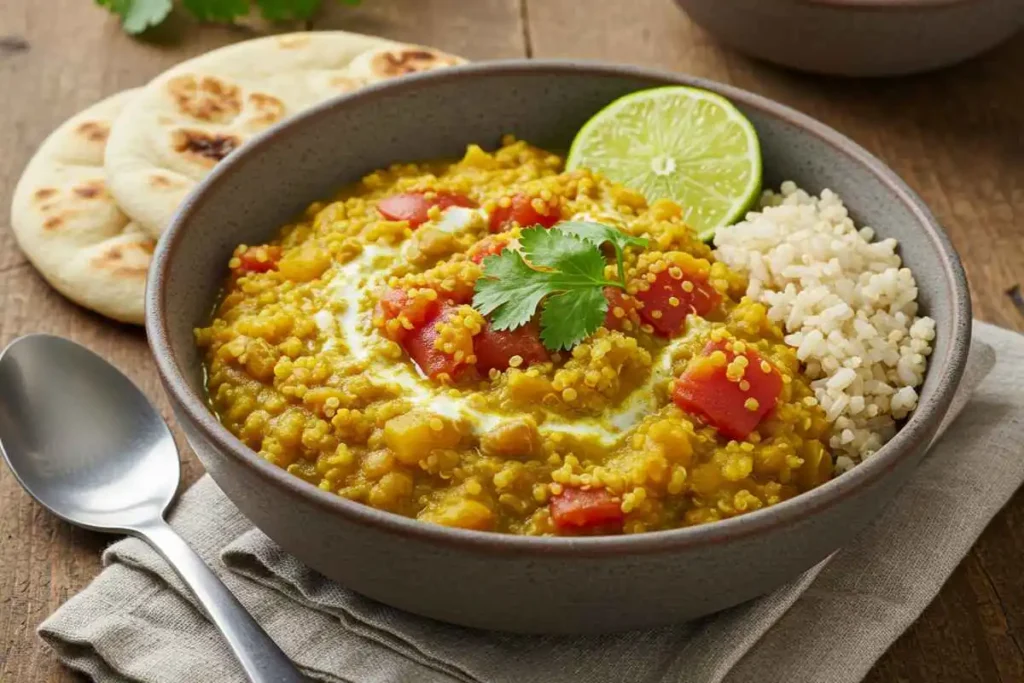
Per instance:
[[[87,0],[0,2],[3,221],[26,162],[67,117],[189,55],[259,31],[175,24],[144,43],[123,35]],[[949,230],[967,266],[976,316],[1024,329],[1024,315],[1006,295],[1024,281],[1024,35],[939,74],[849,82],[782,72],[723,49],[670,0],[364,0],[354,9],[328,0],[321,16],[292,28],[379,34],[471,59],[584,57],[654,66],[774,97],[895,168]],[[172,420],[143,334],[66,302],[26,262],[10,230],[0,227],[0,345],[40,331],[76,339],[110,358]],[[183,459],[190,482],[202,468],[190,454]],[[868,680],[1024,681],[1022,529],[1024,493],[995,518]],[[34,630],[99,571],[109,541],[55,521],[0,468],[0,681],[81,680],[56,663]]]

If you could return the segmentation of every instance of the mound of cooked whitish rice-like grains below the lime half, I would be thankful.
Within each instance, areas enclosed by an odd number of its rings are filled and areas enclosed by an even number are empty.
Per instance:
[[[935,339],[896,241],[873,239],[835,193],[813,197],[793,182],[715,237],[717,257],[749,274],[746,295],[784,327],[813,380],[839,471],[878,451],[916,407]]]

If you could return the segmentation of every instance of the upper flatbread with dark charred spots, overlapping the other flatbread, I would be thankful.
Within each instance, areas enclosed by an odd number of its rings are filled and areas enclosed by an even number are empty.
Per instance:
[[[122,210],[160,237],[196,183],[266,127],[368,83],[463,61],[342,31],[207,52],[158,76],[125,108],[106,147],[108,184]]]

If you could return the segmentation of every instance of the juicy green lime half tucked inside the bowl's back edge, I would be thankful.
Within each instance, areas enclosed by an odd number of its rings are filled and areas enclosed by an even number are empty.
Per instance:
[[[698,88],[669,86],[620,97],[588,121],[566,167],[589,168],[670,199],[701,240],[735,222],[761,190],[761,145],[732,103]]]

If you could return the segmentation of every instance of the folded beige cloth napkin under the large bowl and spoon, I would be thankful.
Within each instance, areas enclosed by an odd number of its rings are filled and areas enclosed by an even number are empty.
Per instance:
[[[947,419],[948,431],[871,526],[773,594],[653,631],[516,636],[406,614],[284,554],[208,477],[184,494],[171,522],[318,681],[849,683],[921,614],[1024,481],[1022,385],[1024,337],[976,323],[952,407],[962,415]],[[191,596],[144,544],[120,541],[103,561],[39,629],[65,664],[102,682],[243,683]]]

